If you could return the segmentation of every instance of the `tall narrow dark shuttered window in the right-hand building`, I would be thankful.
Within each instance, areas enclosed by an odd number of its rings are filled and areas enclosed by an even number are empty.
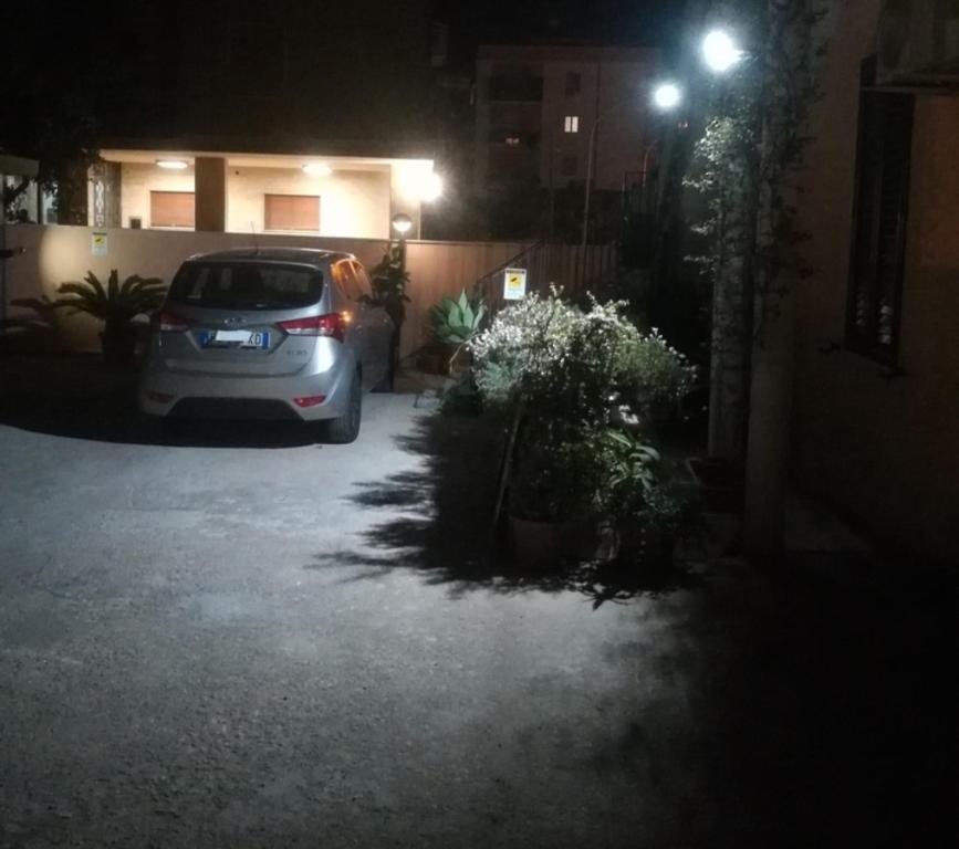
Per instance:
[[[846,346],[896,361],[906,216],[913,153],[914,97],[873,90],[875,59],[863,65]]]

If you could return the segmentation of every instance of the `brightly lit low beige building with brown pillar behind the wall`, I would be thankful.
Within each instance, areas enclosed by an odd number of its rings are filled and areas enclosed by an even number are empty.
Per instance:
[[[419,238],[439,190],[430,159],[105,149],[88,224],[388,239],[399,212]]]

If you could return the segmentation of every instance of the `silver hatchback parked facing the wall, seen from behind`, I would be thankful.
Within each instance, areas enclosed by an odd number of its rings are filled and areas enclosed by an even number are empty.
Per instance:
[[[139,386],[152,416],[325,421],[359,432],[362,395],[392,378],[393,321],[347,253],[242,249],[188,259],[154,316]]]

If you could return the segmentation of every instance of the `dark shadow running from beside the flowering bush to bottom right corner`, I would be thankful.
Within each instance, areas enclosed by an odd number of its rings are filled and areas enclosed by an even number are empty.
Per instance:
[[[633,602],[635,641],[607,651],[648,698],[618,735],[597,738],[587,766],[628,776],[661,811],[644,846],[957,845],[955,575],[837,581],[828,558],[817,569],[809,556],[658,575],[524,569],[488,548],[501,440],[481,421],[421,419],[400,448],[423,468],[362,484],[352,501],[383,521],[310,568],[358,567],[350,580],[413,568],[454,597],[539,589]]]

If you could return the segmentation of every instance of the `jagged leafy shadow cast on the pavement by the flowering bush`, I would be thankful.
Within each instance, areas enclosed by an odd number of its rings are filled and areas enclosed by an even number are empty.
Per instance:
[[[350,500],[382,510],[356,551],[317,554],[312,568],[353,565],[359,577],[413,568],[454,594],[488,588],[499,593],[572,590],[604,602],[625,602],[695,586],[682,566],[557,564],[534,567],[510,556],[502,522],[492,527],[504,428],[469,416],[424,415],[414,432],[396,438],[399,449],[421,457],[415,471],[358,484]]]

